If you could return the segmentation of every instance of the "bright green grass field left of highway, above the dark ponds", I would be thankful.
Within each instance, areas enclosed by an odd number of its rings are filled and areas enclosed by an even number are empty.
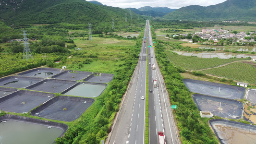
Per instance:
[[[77,48],[82,48],[82,50],[71,49],[78,55],[68,58],[65,63],[67,68],[86,72],[114,73],[125,63],[121,59],[127,55],[126,51],[135,45],[135,41],[93,37],[92,41],[76,38],[74,39],[74,44]],[[89,64],[83,63],[89,55],[95,55],[98,58],[93,58],[93,62]]]

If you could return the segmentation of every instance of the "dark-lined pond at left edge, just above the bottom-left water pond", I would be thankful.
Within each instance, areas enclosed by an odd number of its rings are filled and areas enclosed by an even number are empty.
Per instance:
[[[38,107],[55,95],[20,90],[0,98],[0,109],[8,112],[23,113]]]

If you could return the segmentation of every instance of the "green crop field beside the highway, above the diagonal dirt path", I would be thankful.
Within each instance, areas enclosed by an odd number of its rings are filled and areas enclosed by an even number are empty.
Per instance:
[[[197,58],[191,56],[182,56],[178,54],[172,54],[166,51],[166,56],[168,60],[177,66],[183,67],[187,70],[202,70],[207,68],[217,67],[219,65],[229,63],[236,60],[243,59],[216,59],[216,58]]]

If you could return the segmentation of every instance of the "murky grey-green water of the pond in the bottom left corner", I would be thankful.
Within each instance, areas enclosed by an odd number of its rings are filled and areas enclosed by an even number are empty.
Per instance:
[[[0,123],[0,144],[52,144],[62,132],[56,127],[7,120]]]

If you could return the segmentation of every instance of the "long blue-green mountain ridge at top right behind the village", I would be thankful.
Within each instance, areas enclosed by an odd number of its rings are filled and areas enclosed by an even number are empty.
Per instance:
[[[176,20],[244,20],[254,21],[256,0],[227,0],[207,7],[191,5],[163,16]]]

